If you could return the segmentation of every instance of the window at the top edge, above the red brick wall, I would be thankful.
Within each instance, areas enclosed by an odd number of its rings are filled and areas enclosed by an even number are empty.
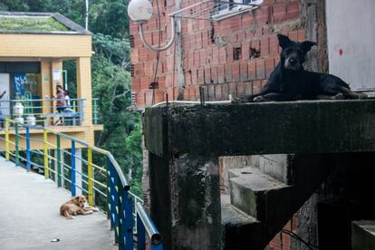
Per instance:
[[[255,5],[261,5],[263,0],[218,0],[217,2],[217,11],[213,17],[215,20],[220,20],[254,9]]]

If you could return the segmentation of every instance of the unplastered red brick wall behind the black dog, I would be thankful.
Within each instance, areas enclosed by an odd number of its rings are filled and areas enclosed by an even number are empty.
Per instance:
[[[198,0],[182,1],[183,6],[197,3]],[[149,43],[164,44],[170,37],[168,13],[175,10],[174,0],[159,1],[159,31],[157,1],[153,0],[153,18],[145,25],[145,36]],[[182,21],[182,54],[185,88],[184,100],[196,101],[199,86],[205,86],[208,101],[228,100],[228,95],[242,96],[245,93],[260,91],[265,79],[279,61],[279,46],[276,34],[289,35],[293,40],[304,40],[305,32],[301,25],[301,0],[264,0],[264,5],[253,13],[237,14],[213,26],[207,21]],[[212,28],[215,42],[211,39]],[[139,107],[150,105],[152,90],[149,83],[154,81],[157,67],[157,53],[147,50],[140,41],[139,29],[130,24],[134,37],[131,49],[132,89],[136,92]],[[161,34],[161,36],[159,35]],[[226,41],[227,43],[223,43]],[[234,60],[234,51],[239,52]],[[178,84],[176,74],[175,48],[160,53],[155,100],[177,100]],[[255,54],[259,57],[255,58]],[[174,81],[173,81],[174,79]]]

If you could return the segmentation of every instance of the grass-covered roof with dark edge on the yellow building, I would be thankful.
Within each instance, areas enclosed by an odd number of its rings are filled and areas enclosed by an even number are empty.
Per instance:
[[[58,13],[0,12],[0,34],[91,34]]]

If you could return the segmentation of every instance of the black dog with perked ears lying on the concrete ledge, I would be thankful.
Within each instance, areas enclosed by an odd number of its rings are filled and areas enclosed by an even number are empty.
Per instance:
[[[270,79],[260,93],[234,102],[367,98],[364,93],[352,92],[348,83],[337,76],[303,69],[305,56],[316,43],[293,42],[283,34],[277,36],[283,51],[280,63],[271,73]]]

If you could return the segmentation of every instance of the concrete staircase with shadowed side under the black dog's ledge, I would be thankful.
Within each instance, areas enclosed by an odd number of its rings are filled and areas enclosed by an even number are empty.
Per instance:
[[[224,168],[224,249],[264,249],[328,177],[327,161],[317,154],[268,155]]]

